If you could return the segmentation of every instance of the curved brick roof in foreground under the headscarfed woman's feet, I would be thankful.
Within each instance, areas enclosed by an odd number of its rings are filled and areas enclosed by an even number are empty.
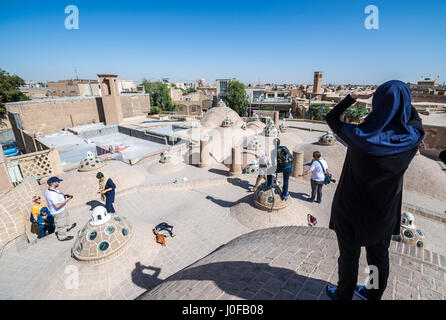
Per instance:
[[[177,272],[142,300],[326,300],[337,284],[336,235],[326,228],[277,227],[242,235]],[[446,299],[443,256],[392,242],[385,300]],[[364,283],[361,254],[358,283]]]

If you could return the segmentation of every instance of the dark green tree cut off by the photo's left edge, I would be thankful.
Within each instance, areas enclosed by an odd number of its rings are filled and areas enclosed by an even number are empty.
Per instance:
[[[30,100],[19,90],[19,87],[24,84],[25,81],[19,76],[10,75],[0,69],[0,116],[4,116],[6,113],[5,103]]]

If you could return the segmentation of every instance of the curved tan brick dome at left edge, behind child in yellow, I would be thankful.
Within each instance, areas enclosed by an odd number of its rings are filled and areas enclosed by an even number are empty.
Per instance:
[[[39,195],[46,206],[45,186],[39,186],[35,179],[27,179],[9,192],[0,194],[0,248],[18,236],[30,232],[29,215],[32,198]]]

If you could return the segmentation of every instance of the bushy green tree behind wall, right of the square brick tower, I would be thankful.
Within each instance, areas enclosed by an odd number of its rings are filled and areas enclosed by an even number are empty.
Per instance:
[[[169,88],[164,82],[150,82],[143,79],[142,85],[150,94],[150,106],[153,113],[170,113],[178,111],[178,105],[174,104],[170,97]]]

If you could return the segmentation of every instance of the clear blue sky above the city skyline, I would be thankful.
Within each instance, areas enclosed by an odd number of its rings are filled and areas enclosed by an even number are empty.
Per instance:
[[[364,27],[367,5],[379,30]],[[67,5],[79,30],[65,29]],[[446,1],[1,1],[0,68],[25,80],[446,81]]]

